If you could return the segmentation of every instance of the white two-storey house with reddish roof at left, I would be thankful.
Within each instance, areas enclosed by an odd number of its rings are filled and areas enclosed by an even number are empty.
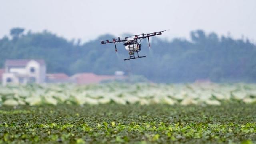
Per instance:
[[[6,60],[2,83],[4,86],[7,84],[40,84],[45,82],[45,78],[44,60]]]

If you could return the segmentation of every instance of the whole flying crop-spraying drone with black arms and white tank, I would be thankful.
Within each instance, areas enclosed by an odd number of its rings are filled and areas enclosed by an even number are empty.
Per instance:
[[[116,49],[116,52],[117,52],[116,43],[117,42],[119,42],[119,43],[124,42],[125,49],[128,50],[129,56],[130,56],[130,58],[127,58],[127,59],[124,59],[124,60],[132,60],[132,59],[135,59],[135,58],[145,58],[146,56],[139,56],[139,53],[138,53],[141,50],[141,40],[144,39],[144,38],[148,38],[148,48],[150,48],[149,37],[161,35],[162,32],[165,32],[165,31],[166,30],[163,30],[163,31],[160,31],[160,32],[152,32],[152,33],[148,33],[148,34],[139,34],[139,35],[127,36],[125,38],[118,37],[118,39],[113,38],[112,41],[109,41],[109,40],[101,41],[101,44],[114,43],[115,44],[115,49]],[[138,42],[138,40],[140,42]],[[137,57],[135,56],[135,53],[137,53]]]

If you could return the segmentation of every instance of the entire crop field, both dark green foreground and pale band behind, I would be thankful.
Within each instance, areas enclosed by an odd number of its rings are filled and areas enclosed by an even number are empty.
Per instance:
[[[256,143],[255,84],[0,87],[0,143]]]

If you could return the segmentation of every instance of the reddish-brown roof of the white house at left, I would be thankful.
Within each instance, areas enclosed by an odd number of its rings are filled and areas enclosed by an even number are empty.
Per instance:
[[[31,59],[31,60],[34,60],[34,59]],[[26,66],[28,62],[30,62],[31,60],[28,60],[28,59],[6,60],[5,66]],[[45,65],[44,60],[35,60],[35,61],[41,65]]]

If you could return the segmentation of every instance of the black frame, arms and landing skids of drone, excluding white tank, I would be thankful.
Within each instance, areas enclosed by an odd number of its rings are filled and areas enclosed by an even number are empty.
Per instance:
[[[163,30],[163,31],[160,31],[160,32],[152,32],[152,33],[148,33],[148,34],[144,34],[143,33],[143,34],[139,34],[139,35],[133,35],[134,36],[134,40],[132,40],[132,42],[133,42],[133,51],[129,52],[130,58],[124,59],[124,60],[131,60],[131,59],[135,59],[135,58],[145,58],[146,56],[139,56],[138,52],[140,52],[140,50],[139,51],[138,50],[134,50],[134,44],[136,44],[138,46],[138,40],[142,40],[144,38],[148,38],[148,48],[150,48],[149,37],[161,35],[162,32],[164,32],[164,31],[166,31],[166,30]],[[127,42],[128,41],[127,39],[131,38],[131,37],[132,36],[128,36],[128,37],[125,37],[125,38],[122,38],[122,39],[120,39],[120,37],[118,37],[118,39],[113,38],[112,41],[109,41],[109,40],[101,41],[101,44],[111,44],[111,43],[114,43],[115,44],[115,51],[117,52],[116,43],[117,42]],[[135,57],[134,52],[137,52],[137,56],[138,57]]]

